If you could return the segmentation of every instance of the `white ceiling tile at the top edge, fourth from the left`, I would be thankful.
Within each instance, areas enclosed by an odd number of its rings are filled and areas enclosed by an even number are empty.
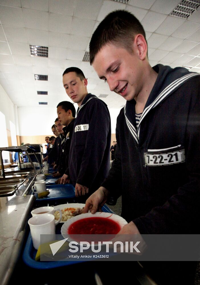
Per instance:
[[[101,8],[99,0],[77,0],[74,16],[81,19],[96,20]]]

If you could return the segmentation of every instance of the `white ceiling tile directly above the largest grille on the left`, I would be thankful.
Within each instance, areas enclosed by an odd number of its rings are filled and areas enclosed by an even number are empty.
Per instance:
[[[48,32],[42,30],[27,29],[28,42],[37,46],[48,46]]]

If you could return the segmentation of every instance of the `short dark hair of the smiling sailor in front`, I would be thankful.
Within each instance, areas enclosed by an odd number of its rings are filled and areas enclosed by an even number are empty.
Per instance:
[[[140,21],[128,11],[116,10],[109,13],[96,28],[89,43],[90,64],[96,54],[108,43],[116,44],[132,53],[132,42],[137,34],[146,34]]]

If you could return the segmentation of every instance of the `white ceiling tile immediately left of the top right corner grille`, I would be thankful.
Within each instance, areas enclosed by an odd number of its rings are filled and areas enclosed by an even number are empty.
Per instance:
[[[156,0],[150,10],[169,15],[180,3],[180,0]]]

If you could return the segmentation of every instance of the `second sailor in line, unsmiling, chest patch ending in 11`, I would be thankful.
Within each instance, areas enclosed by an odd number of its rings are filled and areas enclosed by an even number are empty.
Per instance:
[[[64,71],[63,85],[78,105],[66,174],[75,186],[75,195],[84,196],[99,188],[110,168],[110,114],[102,100],[88,94],[87,79],[79,68]]]

